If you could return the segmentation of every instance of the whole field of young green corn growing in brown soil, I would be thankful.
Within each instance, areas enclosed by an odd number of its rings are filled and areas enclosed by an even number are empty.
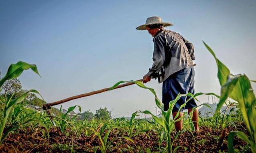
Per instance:
[[[45,111],[37,112],[25,107],[28,94],[40,95],[38,91],[32,89],[20,95],[2,93],[0,152],[256,153],[256,99],[250,85],[255,81],[248,79],[246,75],[230,74],[229,69],[215,57],[211,48],[206,44],[205,46],[216,60],[221,95],[180,94],[170,101],[169,110],[163,111],[163,105],[154,89],[146,87],[141,81],[128,81],[155,95],[156,106],[162,111],[161,116],[155,116],[150,111],[136,111],[130,119],[100,119],[88,117],[87,112],[81,119],[77,115],[69,115],[75,108],[81,113],[80,106],[73,106],[65,113],[51,116],[56,123],[55,127]],[[0,80],[0,87],[28,69],[39,74],[35,65],[25,62],[12,64],[6,76]],[[124,81],[116,83],[112,89],[120,83]],[[188,96],[189,101],[200,95],[214,95],[219,98],[216,111],[211,112],[209,117],[200,117],[199,133],[194,131],[191,114],[187,113],[183,117],[183,130],[175,131],[177,116],[171,119],[173,105],[181,96]],[[227,100],[228,97],[231,100]],[[143,114],[150,118],[138,119],[138,115]]]

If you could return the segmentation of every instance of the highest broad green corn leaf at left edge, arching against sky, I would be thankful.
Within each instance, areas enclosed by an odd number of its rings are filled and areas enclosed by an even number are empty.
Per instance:
[[[6,80],[13,79],[13,78],[20,76],[20,74],[22,74],[22,72],[24,70],[28,70],[29,68],[31,70],[33,70],[36,74],[39,75],[39,73],[37,71],[37,66],[35,64],[28,64],[28,63],[22,62],[22,61],[20,61],[16,64],[11,64],[8,68],[6,75],[0,80],[0,87],[2,87],[2,85],[4,84],[4,82]]]

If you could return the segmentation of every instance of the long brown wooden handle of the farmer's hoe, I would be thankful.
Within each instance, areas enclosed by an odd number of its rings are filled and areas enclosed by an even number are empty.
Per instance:
[[[142,79],[139,79],[137,81],[142,81]],[[117,88],[121,88],[121,87],[125,87],[125,86],[128,86],[128,85],[132,85],[134,84],[134,82],[129,82],[129,83],[124,83],[122,85],[118,85],[116,86],[114,89],[117,89]],[[95,95],[95,94],[98,94],[98,93],[102,93],[102,92],[105,92],[105,91],[108,91],[111,87],[108,87],[108,88],[105,88],[105,89],[101,89],[101,90],[97,90],[97,91],[92,91],[92,92],[88,92],[88,93],[83,93],[83,94],[80,94],[80,95],[75,95],[75,96],[72,96],[72,97],[68,97],[66,99],[62,99],[62,100],[59,100],[59,101],[55,101],[55,102],[52,102],[52,103],[47,103],[47,104],[44,104],[43,105],[43,109],[51,109],[51,106],[54,106],[54,105],[59,105],[61,103],[65,103],[67,101],[71,101],[73,99],[78,99],[78,98],[81,98],[81,97],[87,97],[89,95]]]

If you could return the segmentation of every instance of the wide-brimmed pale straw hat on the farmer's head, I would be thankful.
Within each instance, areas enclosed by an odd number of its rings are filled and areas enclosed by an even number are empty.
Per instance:
[[[147,18],[145,24],[138,26],[136,29],[137,30],[146,30],[146,26],[153,25],[153,24],[163,24],[163,27],[173,25],[172,23],[169,23],[169,22],[162,22],[162,19],[158,16],[151,16],[151,17]]]

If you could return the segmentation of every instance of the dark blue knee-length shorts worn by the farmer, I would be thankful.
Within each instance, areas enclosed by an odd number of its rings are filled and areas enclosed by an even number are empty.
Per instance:
[[[188,92],[194,94],[194,84],[195,84],[195,71],[193,66],[187,66],[186,68],[175,72],[169,76],[165,81],[163,81],[163,95],[162,103],[164,103],[164,110],[167,111],[169,108],[170,101],[174,100],[179,93],[186,94]],[[179,111],[182,104],[185,103],[187,97],[181,97],[173,107],[174,111]],[[181,108],[181,112],[184,109],[189,109],[197,106],[195,99],[191,99],[187,102],[186,106]]]

